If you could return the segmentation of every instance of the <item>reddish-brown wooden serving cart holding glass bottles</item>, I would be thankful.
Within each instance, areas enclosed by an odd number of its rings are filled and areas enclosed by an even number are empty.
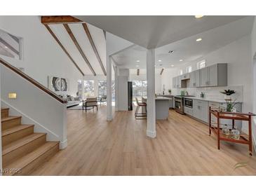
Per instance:
[[[217,123],[213,123],[211,121],[211,114],[217,118]],[[252,116],[255,116],[255,114],[220,111],[220,109],[209,107],[209,135],[211,135],[212,131],[215,133],[215,135],[217,135],[217,149],[220,149],[221,140],[239,144],[248,144],[249,154],[252,156]],[[234,129],[235,121],[248,121],[248,135],[245,134],[245,132],[240,132],[239,139],[234,139],[231,137],[231,135],[227,137],[222,133],[222,125],[220,124],[220,119],[231,119],[231,129]]]

